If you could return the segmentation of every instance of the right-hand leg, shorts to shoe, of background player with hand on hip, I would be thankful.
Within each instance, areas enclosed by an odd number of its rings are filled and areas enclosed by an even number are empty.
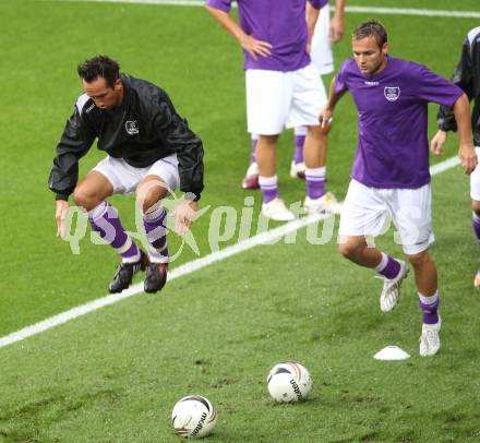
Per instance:
[[[339,213],[340,205],[335,196],[325,192],[327,130],[319,123],[319,115],[326,104],[326,93],[319,72],[313,64],[293,73],[293,104],[287,127],[305,124],[303,157],[305,163],[307,197],[304,208],[308,213]]]

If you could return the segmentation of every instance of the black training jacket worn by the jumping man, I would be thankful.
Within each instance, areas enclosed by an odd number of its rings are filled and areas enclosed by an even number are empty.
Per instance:
[[[144,80],[122,74],[123,100],[112,110],[100,110],[83,94],[57,145],[49,188],[57,200],[68,200],[79,180],[79,159],[95,139],[97,147],[129,165],[144,168],[177,153],[180,189],[195,200],[203,190],[202,141],[189,129],[167,93]]]

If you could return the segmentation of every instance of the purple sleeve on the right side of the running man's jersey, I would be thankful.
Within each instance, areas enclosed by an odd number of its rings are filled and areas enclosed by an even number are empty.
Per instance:
[[[430,71],[428,68],[418,65],[419,69],[419,98],[433,101],[439,105],[453,107],[464,92],[444,77]]]

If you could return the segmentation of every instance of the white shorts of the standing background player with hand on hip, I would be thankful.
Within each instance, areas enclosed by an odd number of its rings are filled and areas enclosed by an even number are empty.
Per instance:
[[[284,125],[317,125],[326,105],[322,79],[312,63],[291,72],[249,69],[245,72],[248,131],[277,135]]]

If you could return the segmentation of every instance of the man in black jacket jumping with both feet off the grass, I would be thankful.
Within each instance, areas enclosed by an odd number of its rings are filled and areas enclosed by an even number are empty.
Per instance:
[[[167,280],[168,248],[164,197],[178,185],[185,200],[175,209],[176,228],[190,228],[203,190],[202,141],[176,111],[167,93],[144,80],[120,74],[106,56],[77,68],[85,94],[67,121],[49,188],[57,194],[57,235],[64,235],[69,196],[88,215],[92,229],[121,255],[108,287],[120,292],[146,267],[144,289],[160,290]],[[79,160],[95,139],[108,156],[77,183]],[[118,213],[106,199],[136,193],[149,243],[148,258],[123,229]]]

